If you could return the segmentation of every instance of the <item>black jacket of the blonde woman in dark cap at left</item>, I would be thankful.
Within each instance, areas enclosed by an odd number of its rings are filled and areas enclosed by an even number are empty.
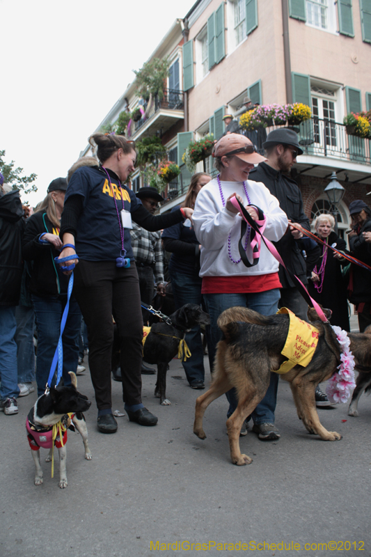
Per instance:
[[[52,244],[40,244],[42,233],[58,232],[47,218],[45,212],[36,212],[26,220],[26,230],[22,243],[24,260],[31,261],[30,292],[41,297],[65,294],[68,288],[68,276],[59,271],[54,258],[60,255]]]

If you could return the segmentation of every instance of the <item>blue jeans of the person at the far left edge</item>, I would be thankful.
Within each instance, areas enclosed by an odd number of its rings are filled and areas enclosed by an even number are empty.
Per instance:
[[[0,399],[19,395],[15,306],[0,306]]]

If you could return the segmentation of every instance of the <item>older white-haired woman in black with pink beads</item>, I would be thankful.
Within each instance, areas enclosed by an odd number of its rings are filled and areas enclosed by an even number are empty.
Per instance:
[[[334,232],[335,219],[332,214],[320,214],[315,219],[314,226],[316,236],[325,244],[320,244],[322,253],[312,272],[309,293],[319,304],[331,309],[332,325],[350,331],[347,285],[342,275],[342,266],[347,265],[347,260],[329,248],[332,246],[349,253],[347,244]]]

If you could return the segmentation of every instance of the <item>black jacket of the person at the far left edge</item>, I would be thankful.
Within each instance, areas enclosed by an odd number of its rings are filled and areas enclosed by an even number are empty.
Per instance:
[[[22,280],[22,202],[19,191],[0,197],[0,306],[17,306]]]

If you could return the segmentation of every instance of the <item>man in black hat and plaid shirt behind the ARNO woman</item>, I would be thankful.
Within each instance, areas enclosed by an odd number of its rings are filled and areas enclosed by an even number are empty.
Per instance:
[[[151,214],[155,214],[157,206],[164,198],[160,196],[155,187],[141,187],[136,192],[143,203],[143,207]],[[165,295],[164,284],[164,253],[161,244],[161,232],[150,232],[145,230],[135,222],[130,233],[132,237],[132,249],[139,276],[139,289],[141,290],[141,301],[151,304],[155,295],[155,284],[157,294]],[[142,308],[143,323],[148,321],[148,311]],[[152,375],[155,373],[153,368],[148,368],[142,363],[142,374]]]

